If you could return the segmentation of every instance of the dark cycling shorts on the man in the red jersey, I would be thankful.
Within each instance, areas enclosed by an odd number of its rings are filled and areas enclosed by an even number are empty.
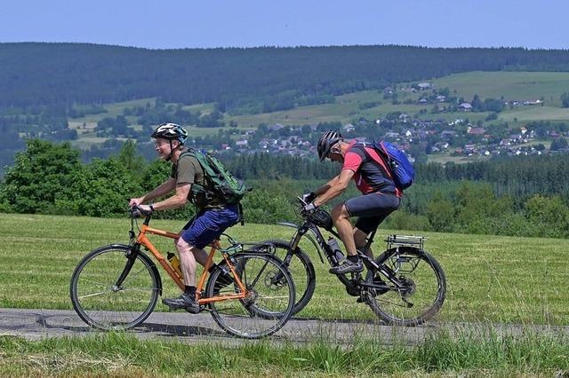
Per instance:
[[[369,193],[350,198],[344,202],[350,217],[358,217],[356,228],[370,233],[393,211],[397,210],[401,199],[390,193]]]

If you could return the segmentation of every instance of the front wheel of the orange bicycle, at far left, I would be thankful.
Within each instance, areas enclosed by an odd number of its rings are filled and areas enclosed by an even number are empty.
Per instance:
[[[140,325],[154,310],[160,277],[148,256],[114,245],[84,256],[71,277],[71,303],[85,323],[103,330]],[[119,277],[125,276],[122,282]]]

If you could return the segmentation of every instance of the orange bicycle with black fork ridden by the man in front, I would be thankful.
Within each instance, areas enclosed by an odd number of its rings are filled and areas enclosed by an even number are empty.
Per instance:
[[[146,217],[139,228],[135,212],[131,211],[130,243],[92,250],[71,277],[69,291],[73,307],[92,327],[103,330],[137,327],[156,307],[158,296],[162,295],[162,280],[156,264],[140,246],[150,251],[180,289],[184,288],[180,274],[148,240],[148,234],[171,239],[180,235],[149,227],[149,213],[143,214]],[[269,245],[265,250],[250,251],[230,237],[228,241],[228,248],[221,248],[219,240],[212,242],[196,287],[197,303],[230,335],[252,339],[272,335],[292,315],[293,278]],[[206,283],[215,251],[220,251],[223,261]]]

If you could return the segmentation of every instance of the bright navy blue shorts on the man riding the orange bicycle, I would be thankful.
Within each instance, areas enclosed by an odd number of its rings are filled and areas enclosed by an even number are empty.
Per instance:
[[[196,214],[181,232],[181,239],[190,246],[204,248],[220,237],[228,227],[239,220],[237,205],[228,205],[222,209],[205,209]]]

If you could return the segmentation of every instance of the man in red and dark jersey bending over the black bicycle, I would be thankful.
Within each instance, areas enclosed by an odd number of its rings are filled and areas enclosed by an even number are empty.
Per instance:
[[[314,211],[339,196],[348,187],[349,180],[354,179],[362,195],[340,203],[332,210],[333,223],[348,258],[330,272],[362,272],[364,264],[357,256],[357,248],[364,248],[367,235],[399,207],[402,193],[393,182],[385,161],[371,144],[344,141],[340,132],[328,130],[318,140],[317,151],[320,161],[340,162],[342,167],[338,176],[315,192],[304,194],[303,200],[309,202],[305,210]],[[358,217],[354,227],[349,222],[350,217]]]

